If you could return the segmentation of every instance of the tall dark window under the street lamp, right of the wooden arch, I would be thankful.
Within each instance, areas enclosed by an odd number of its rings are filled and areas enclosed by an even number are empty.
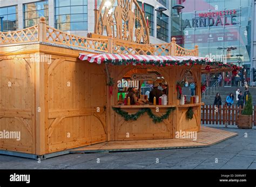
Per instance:
[[[157,38],[160,40],[164,40],[166,42],[169,41],[169,24],[168,24],[169,17],[162,13],[157,12]]]

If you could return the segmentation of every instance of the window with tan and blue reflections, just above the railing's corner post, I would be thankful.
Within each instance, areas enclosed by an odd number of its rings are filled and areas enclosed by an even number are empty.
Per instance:
[[[24,4],[24,28],[38,24],[40,17],[45,17],[48,24],[48,1]]]

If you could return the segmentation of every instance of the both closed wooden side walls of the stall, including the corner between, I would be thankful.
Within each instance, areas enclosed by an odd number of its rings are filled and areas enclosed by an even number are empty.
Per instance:
[[[74,50],[41,48],[47,53],[0,59],[0,131],[21,131],[20,141],[0,139],[0,149],[43,155],[105,142],[105,66]],[[51,62],[31,61],[36,53]]]

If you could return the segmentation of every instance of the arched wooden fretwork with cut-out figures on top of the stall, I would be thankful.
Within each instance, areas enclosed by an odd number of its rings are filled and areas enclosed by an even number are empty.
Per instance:
[[[95,10],[95,33],[149,44],[149,30],[137,0],[102,0]]]

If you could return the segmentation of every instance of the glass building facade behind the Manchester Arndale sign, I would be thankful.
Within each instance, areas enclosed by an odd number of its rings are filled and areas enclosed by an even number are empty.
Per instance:
[[[171,36],[186,49],[199,46],[199,56],[250,67],[251,0],[172,0]],[[179,16],[180,15],[180,16]],[[250,81],[250,71],[246,80]]]

